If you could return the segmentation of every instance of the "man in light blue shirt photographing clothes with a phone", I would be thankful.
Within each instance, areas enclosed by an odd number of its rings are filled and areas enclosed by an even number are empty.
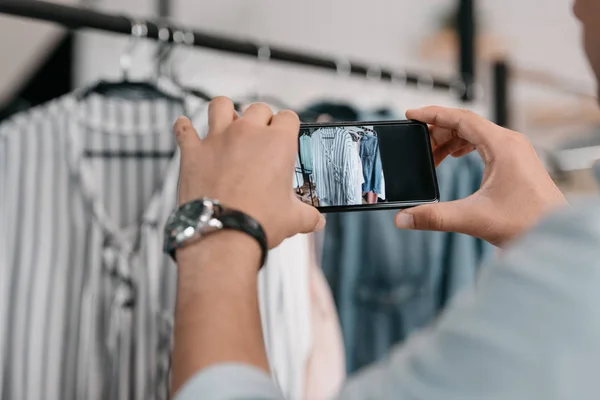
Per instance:
[[[600,77],[600,0],[577,0],[575,11]],[[218,98],[209,114],[204,140],[185,118],[175,126],[180,202],[219,200],[237,222],[172,246],[179,268],[173,392],[180,400],[277,399],[256,275],[266,247],[322,229],[324,219],[289,190],[294,113],[272,115],[255,104],[238,117],[231,101]],[[428,107],[407,116],[431,125],[436,164],[477,150],[486,167],[472,196],[399,212],[396,224],[462,232],[505,251],[476,290],[351,378],[340,398],[600,398],[600,202],[569,209],[519,133],[462,110]]]

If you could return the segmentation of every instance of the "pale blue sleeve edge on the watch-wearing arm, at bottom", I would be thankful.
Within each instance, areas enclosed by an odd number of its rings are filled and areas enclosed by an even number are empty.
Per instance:
[[[244,364],[225,363],[200,371],[174,400],[283,400],[267,373]]]

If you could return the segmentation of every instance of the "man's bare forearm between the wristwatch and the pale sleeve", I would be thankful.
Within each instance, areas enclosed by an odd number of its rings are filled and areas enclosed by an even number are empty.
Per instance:
[[[173,393],[216,363],[241,362],[268,372],[258,308],[260,256],[256,241],[235,231],[178,250]]]

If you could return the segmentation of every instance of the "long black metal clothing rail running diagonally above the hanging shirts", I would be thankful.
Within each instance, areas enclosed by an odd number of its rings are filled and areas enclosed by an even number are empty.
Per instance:
[[[0,13],[54,22],[71,29],[87,28],[125,35],[131,35],[132,22],[142,22],[147,26],[147,34],[144,37],[150,39],[159,39],[159,30],[163,28],[162,25],[159,27],[152,21],[129,18],[124,15],[111,15],[89,9],[38,0],[0,0]],[[204,47],[228,53],[259,57],[266,60],[276,60],[329,69],[348,75],[364,76],[374,80],[418,85],[422,88],[452,90],[453,93],[456,93],[456,95],[459,95],[461,98],[463,97],[464,92],[469,90],[469,85],[465,85],[460,81],[460,78],[458,81],[454,82],[451,80],[435,78],[428,74],[392,70],[381,68],[377,65],[367,65],[347,60],[336,61],[314,54],[284,49],[278,46],[268,46],[262,43],[226,38],[175,26],[168,26],[168,29],[170,31],[168,40],[171,42],[173,41],[174,32],[193,34],[193,46],[195,47]]]

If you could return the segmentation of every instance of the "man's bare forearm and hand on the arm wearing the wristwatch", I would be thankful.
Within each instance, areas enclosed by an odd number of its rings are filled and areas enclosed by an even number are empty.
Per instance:
[[[204,197],[218,200],[259,223],[269,248],[324,227],[324,217],[292,191],[300,126],[295,113],[273,115],[265,104],[252,104],[238,116],[231,100],[219,97],[209,105],[208,125],[208,134],[200,139],[187,118],[175,123],[180,204]],[[255,238],[231,230],[207,234],[177,251],[173,393],[197,372],[211,377],[211,367],[219,370],[223,364],[250,366],[268,377],[258,308],[261,252]],[[247,392],[243,374],[230,379],[215,393],[203,389],[200,397]],[[270,393],[278,396],[266,379]]]

